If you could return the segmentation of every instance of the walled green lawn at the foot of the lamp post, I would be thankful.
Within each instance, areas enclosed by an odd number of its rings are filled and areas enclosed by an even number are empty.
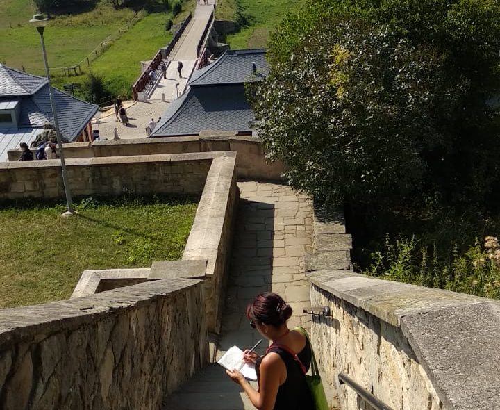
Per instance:
[[[194,197],[85,199],[78,215],[40,202],[0,208],[0,307],[67,299],[85,269],[179,259]]]

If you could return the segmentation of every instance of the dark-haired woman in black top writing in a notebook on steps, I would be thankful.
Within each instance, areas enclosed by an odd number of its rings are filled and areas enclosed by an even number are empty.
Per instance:
[[[257,409],[313,409],[305,377],[311,361],[310,345],[301,332],[288,329],[291,316],[292,308],[276,293],[261,293],[247,307],[251,327],[272,341],[262,357],[251,350],[244,351],[244,360],[255,363],[258,390],[238,370],[226,372]]]

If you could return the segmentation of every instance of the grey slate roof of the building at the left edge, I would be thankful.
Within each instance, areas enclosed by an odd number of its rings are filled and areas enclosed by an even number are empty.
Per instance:
[[[67,95],[56,88],[52,88],[52,93],[61,134],[73,141],[92,120],[99,106]],[[0,104],[12,101],[19,101],[21,104],[19,133],[24,133],[24,128],[43,128],[44,122],[53,121],[47,79],[0,64]]]

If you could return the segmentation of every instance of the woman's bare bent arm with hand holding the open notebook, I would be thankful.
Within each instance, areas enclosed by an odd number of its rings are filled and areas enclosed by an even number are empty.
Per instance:
[[[227,374],[242,386],[253,406],[259,410],[272,410],[278,388],[286,379],[286,367],[278,354],[267,354],[260,363],[259,391],[256,391],[238,370],[227,370]]]

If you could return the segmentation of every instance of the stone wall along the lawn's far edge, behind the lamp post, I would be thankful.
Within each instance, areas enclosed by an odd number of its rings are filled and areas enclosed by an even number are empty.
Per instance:
[[[199,194],[214,154],[163,154],[66,161],[74,196],[133,192]],[[0,199],[64,197],[58,160],[0,163]]]

